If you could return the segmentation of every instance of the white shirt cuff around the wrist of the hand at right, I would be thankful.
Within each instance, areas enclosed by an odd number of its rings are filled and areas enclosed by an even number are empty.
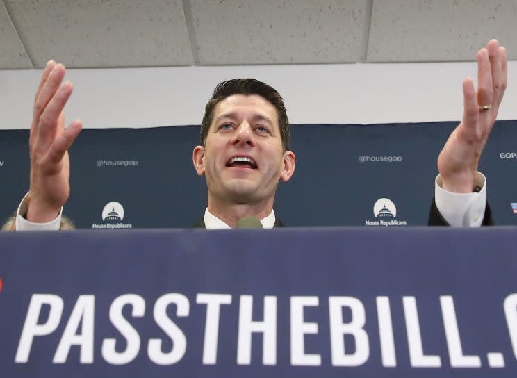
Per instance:
[[[438,174],[434,180],[434,201],[443,219],[452,227],[480,227],[486,208],[486,177],[477,172],[475,185],[481,191],[454,193],[442,188]]]

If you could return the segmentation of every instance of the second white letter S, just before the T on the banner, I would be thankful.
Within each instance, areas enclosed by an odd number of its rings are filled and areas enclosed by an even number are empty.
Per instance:
[[[189,303],[183,294],[171,293],[165,294],[158,298],[154,304],[154,321],[172,340],[172,350],[169,353],[163,353],[161,350],[162,340],[159,338],[151,338],[147,345],[147,354],[149,359],[157,365],[172,365],[177,363],[185,355],[187,350],[187,338],[183,331],[178,328],[170,318],[167,317],[167,306],[176,304],[176,316],[188,316]]]

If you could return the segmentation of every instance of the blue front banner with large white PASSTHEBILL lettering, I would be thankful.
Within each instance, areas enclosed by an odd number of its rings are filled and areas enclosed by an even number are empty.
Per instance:
[[[514,377],[512,228],[0,235],[1,377]]]

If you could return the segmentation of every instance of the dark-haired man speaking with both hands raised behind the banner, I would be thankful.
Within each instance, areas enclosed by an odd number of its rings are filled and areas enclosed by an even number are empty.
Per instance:
[[[477,54],[478,88],[463,81],[463,119],[438,156],[436,197],[430,224],[479,226],[491,222],[486,210],[486,182],[477,172],[479,156],[495,122],[507,83],[506,51],[496,40]],[[53,61],[44,69],[35,96],[31,151],[30,200],[22,201],[17,229],[58,229],[69,197],[67,150],[82,122],[67,129],[63,108],[72,83],[61,84],[65,67]],[[440,106],[436,99],[434,106]],[[197,174],[206,176],[206,228],[234,227],[244,216],[261,220],[265,228],[279,225],[274,194],[280,180],[295,171],[289,150],[288,118],[276,90],[254,79],[233,79],[218,85],[206,105],[201,144],[192,154]],[[201,225],[201,223],[199,223]]]

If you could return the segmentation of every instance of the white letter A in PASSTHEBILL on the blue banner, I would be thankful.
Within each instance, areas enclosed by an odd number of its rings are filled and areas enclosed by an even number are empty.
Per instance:
[[[65,363],[70,347],[80,345],[81,363],[93,363],[94,313],[95,297],[93,295],[79,295],[52,362]],[[79,324],[81,324],[81,334],[78,335]]]

